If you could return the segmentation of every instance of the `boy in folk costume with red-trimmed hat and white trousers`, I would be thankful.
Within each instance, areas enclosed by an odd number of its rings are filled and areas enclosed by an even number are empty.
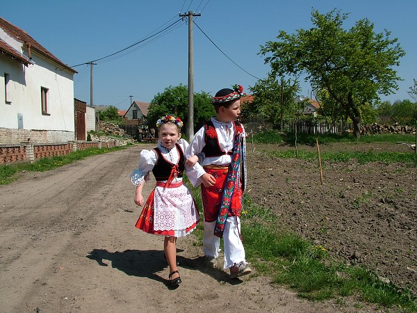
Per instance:
[[[224,269],[231,277],[249,274],[240,236],[240,212],[245,187],[245,130],[238,122],[243,88],[224,88],[213,97],[216,117],[204,123],[186,150],[186,168],[193,186],[201,185],[204,209],[203,250],[206,262],[215,267],[224,241]],[[188,162],[188,161],[187,161]],[[193,163],[190,163],[191,165]]]

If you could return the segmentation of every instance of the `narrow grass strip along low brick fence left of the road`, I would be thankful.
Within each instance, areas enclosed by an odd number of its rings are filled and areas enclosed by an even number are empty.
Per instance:
[[[59,168],[60,166],[65,166],[66,164],[72,163],[74,161],[79,161],[87,157],[91,157],[97,154],[104,154],[107,152],[113,152],[117,150],[122,150],[124,147],[112,147],[112,148],[89,148],[86,150],[78,150],[71,152],[70,154],[55,156],[49,158],[39,159],[33,163],[10,163],[0,166],[0,184],[10,184],[17,178],[19,172],[44,172],[47,170],[54,170],[54,168]]]

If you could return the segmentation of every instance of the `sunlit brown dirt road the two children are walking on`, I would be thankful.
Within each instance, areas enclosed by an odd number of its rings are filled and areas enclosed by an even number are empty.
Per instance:
[[[0,312],[377,312],[300,300],[256,275],[229,280],[204,268],[193,235],[178,241],[183,282],[170,289],[163,239],[134,227],[142,148],[0,186]]]

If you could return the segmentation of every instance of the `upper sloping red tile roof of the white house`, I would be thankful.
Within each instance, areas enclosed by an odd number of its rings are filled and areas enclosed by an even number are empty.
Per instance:
[[[42,45],[40,45],[39,42],[37,42],[30,35],[28,35],[26,31],[19,29],[19,27],[11,24],[10,22],[6,21],[6,19],[3,19],[1,17],[0,17],[0,28],[3,29],[3,31],[8,33],[10,36],[13,36],[18,40],[22,40],[24,44],[27,47],[30,47],[30,49],[33,49],[33,51],[38,52],[42,56],[46,56],[47,58],[58,63],[58,65],[61,65],[65,69],[69,70],[70,72],[76,73],[76,70],[72,69],[71,67],[68,67],[68,65],[60,61],[60,59],[54,56],[54,54],[51,54],[51,52],[49,52],[47,49],[42,47]],[[5,52],[10,54],[10,51],[5,51]]]

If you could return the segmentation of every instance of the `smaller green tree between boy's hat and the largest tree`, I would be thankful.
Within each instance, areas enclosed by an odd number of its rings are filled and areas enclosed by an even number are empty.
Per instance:
[[[281,78],[278,81],[277,77],[268,74],[266,79],[260,79],[249,89],[254,95],[254,101],[243,106],[243,116],[263,118],[273,125],[280,125],[281,130],[284,120],[294,117],[294,98],[300,90],[297,80]]]

